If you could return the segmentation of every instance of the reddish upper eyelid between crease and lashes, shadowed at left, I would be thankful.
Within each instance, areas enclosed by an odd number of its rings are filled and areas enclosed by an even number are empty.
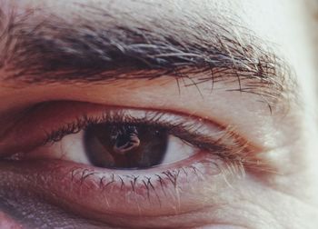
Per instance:
[[[11,132],[8,134],[14,133],[16,130],[20,137],[25,137],[21,134],[30,134],[30,129],[39,130],[39,134],[45,134],[48,136],[50,132],[58,132],[59,128],[56,128],[56,125],[65,126],[68,129],[73,129],[73,132],[78,132],[84,128],[85,125],[89,123],[102,123],[104,119],[104,115],[108,114],[111,110],[112,113],[118,113],[120,110],[129,111],[132,118],[128,118],[129,115],[125,114],[126,121],[132,122],[133,119],[143,119],[146,118],[150,121],[159,121],[162,122],[163,119],[171,119],[174,118],[174,122],[170,122],[170,127],[174,125],[183,124],[184,121],[189,123],[189,126],[192,128],[192,132],[195,132],[194,125],[196,128],[200,128],[200,132],[203,133],[205,129],[207,133],[211,133],[211,128],[214,126],[215,129],[225,130],[226,125],[218,124],[212,122],[210,119],[204,119],[200,116],[195,115],[186,115],[181,114],[175,111],[168,110],[149,110],[145,108],[133,108],[133,107],[118,107],[118,106],[107,106],[107,105],[94,105],[91,103],[83,103],[83,102],[72,102],[72,101],[53,101],[53,102],[45,102],[29,108],[25,115],[19,118],[15,124],[11,126]],[[119,112],[120,113],[120,112]],[[132,115],[134,114],[134,115]],[[114,116],[114,115],[113,115]],[[66,119],[67,117],[67,119]],[[129,120],[128,120],[129,119]],[[181,119],[181,121],[179,121]],[[67,121],[68,120],[68,121]],[[197,122],[196,120],[200,120]],[[123,119],[117,120],[123,122]],[[178,121],[178,122],[176,122]],[[113,120],[116,122],[116,120]],[[27,124],[36,124],[35,126],[29,126]],[[167,122],[166,122],[167,123]],[[26,126],[25,126],[26,124]],[[72,125],[77,126],[78,130]],[[200,125],[200,126],[199,126]],[[207,125],[210,125],[208,128]],[[47,128],[45,128],[47,127]],[[234,133],[234,127],[231,127],[232,130],[228,131],[229,133]],[[15,134],[15,133],[14,133]],[[70,133],[71,134],[71,133]],[[4,141],[5,142],[5,141]],[[44,142],[45,143],[45,142]]]

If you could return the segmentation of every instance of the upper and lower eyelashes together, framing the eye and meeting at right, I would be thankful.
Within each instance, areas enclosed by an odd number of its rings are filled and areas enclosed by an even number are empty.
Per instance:
[[[94,124],[145,124],[164,128],[169,134],[197,147],[203,153],[198,153],[201,154],[198,157],[201,159],[191,159],[179,165],[158,165],[154,170],[134,170],[126,173],[112,169],[84,168],[78,164],[68,173],[72,184],[78,184],[81,188],[93,183],[92,186],[104,194],[117,190],[124,195],[125,190],[131,190],[139,196],[139,192],[144,192],[148,202],[161,204],[164,199],[160,194],[159,197],[157,192],[165,195],[166,192],[173,192],[179,188],[182,190],[184,184],[180,181],[184,179],[189,179],[191,185],[196,181],[209,179],[214,174],[221,174],[225,181],[228,176],[238,178],[245,174],[244,167],[247,164],[243,164],[242,158],[250,152],[246,141],[231,128],[224,128],[192,116],[108,108],[99,115],[81,115],[75,118],[74,122],[62,125],[46,135],[45,144],[58,143],[65,135],[77,134]]]

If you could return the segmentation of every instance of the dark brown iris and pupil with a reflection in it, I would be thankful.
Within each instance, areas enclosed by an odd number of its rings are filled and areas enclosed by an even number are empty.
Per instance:
[[[164,159],[167,131],[145,124],[95,124],[85,131],[85,152],[99,167],[148,168]]]

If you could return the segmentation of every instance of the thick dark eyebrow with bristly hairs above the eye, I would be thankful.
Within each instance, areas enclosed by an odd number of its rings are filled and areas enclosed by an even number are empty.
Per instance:
[[[173,76],[178,84],[190,82],[185,85],[236,82],[226,90],[268,101],[294,84],[289,66],[229,18],[187,14],[147,22],[133,14],[81,7],[89,16],[73,14],[72,22],[43,8],[0,11],[5,80],[66,84]]]

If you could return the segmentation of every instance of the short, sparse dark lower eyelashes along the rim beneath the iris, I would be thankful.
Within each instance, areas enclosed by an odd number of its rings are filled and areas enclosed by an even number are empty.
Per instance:
[[[203,171],[203,168],[209,170],[209,173]],[[79,189],[98,190],[104,195],[120,193],[123,196],[128,196],[127,199],[130,200],[135,198],[140,200],[142,197],[145,203],[161,205],[162,198],[167,197],[167,195],[169,195],[168,198],[179,198],[178,195],[183,192],[183,184],[191,185],[204,181],[206,176],[221,174],[222,171],[224,170],[221,170],[215,162],[204,160],[204,163],[194,163],[154,174],[134,174],[132,171],[130,171],[132,174],[104,174],[77,167],[72,169],[69,175],[72,185],[77,185]],[[110,205],[109,200],[105,201],[106,204]],[[145,203],[138,201],[135,204]]]

